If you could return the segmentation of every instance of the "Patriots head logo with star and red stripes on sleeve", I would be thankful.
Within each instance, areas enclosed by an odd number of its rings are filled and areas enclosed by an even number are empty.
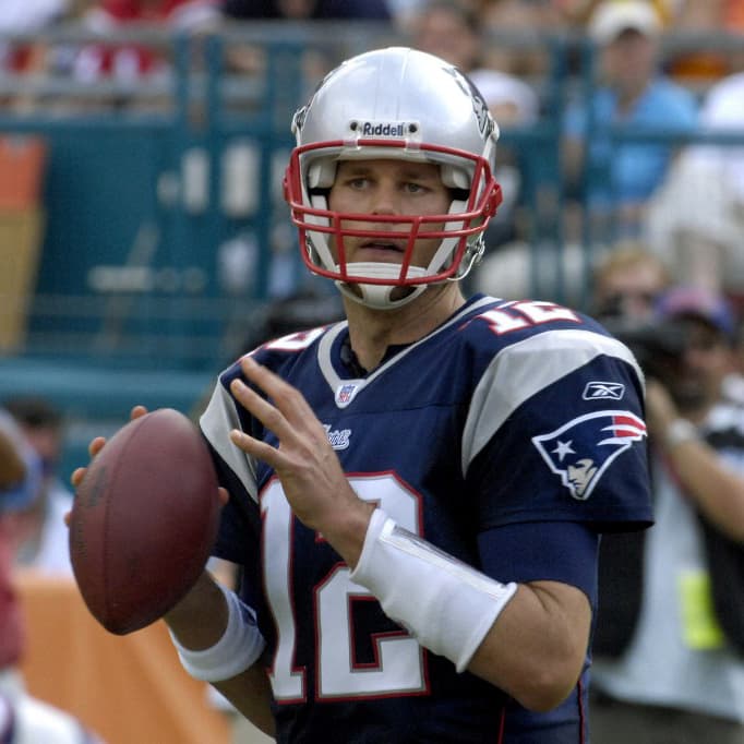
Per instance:
[[[532,444],[571,495],[586,501],[611,463],[645,436],[646,424],[635,413],[604,410],[533,436]]]

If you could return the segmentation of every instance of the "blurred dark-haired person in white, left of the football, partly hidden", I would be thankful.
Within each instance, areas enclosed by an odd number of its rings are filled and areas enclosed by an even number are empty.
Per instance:
[[[4,406],[39,456],[44,475],[40,494],[27,509],[31,529],[19,549],[16,563],[47,574],[71,576],[64,515],[72,507],[72,492],[58,472],[64,436],[62,415],[50,401],[38,397],[11,398]]]

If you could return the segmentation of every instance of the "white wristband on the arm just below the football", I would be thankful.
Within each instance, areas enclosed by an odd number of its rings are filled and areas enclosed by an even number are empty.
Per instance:
[[[181,646],[170,633],[183,669],[204,682],[220,682],[240,674],[259,659],[266,647],[255,623],[255,612],[233,591],[217,586],[225,595],[228,612],[227,627],[221,638],[209,648],[194,651]]]

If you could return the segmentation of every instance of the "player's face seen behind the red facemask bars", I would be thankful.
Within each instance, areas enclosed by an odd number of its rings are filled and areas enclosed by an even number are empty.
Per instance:
[[[431,163],[405,160],[344,160],[338,164],[336,180],[328,194],[328,206],[340,213],[364,215],[442,215],[452,202],[442,183],[440,168]],[[409,223],[344,220],[345,230],[400,232]],[[442,225],[428,224],[425,230],[441,230]],[[344,248],[348,263],[403,263],[408,241],[405,238],[346,236]],[[440,238],[416,241],[411,263],[427,266],[441,243]],[[335,249],[334,249],[335,250]]]

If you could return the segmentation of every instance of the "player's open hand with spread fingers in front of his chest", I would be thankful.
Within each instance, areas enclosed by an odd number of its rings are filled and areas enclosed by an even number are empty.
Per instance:
[[[245,377],[262,389],[265,400],[241,380],[230,391],[236,399],[279,440],[279,446],[233,430],[233,444],[267,463],[279,477],[296,516],[317,530],[356,565],[374,507],[362,502],[349,485],[341,465],[328,443],[323,424],[302,394],[251,357],[241,368]]]

